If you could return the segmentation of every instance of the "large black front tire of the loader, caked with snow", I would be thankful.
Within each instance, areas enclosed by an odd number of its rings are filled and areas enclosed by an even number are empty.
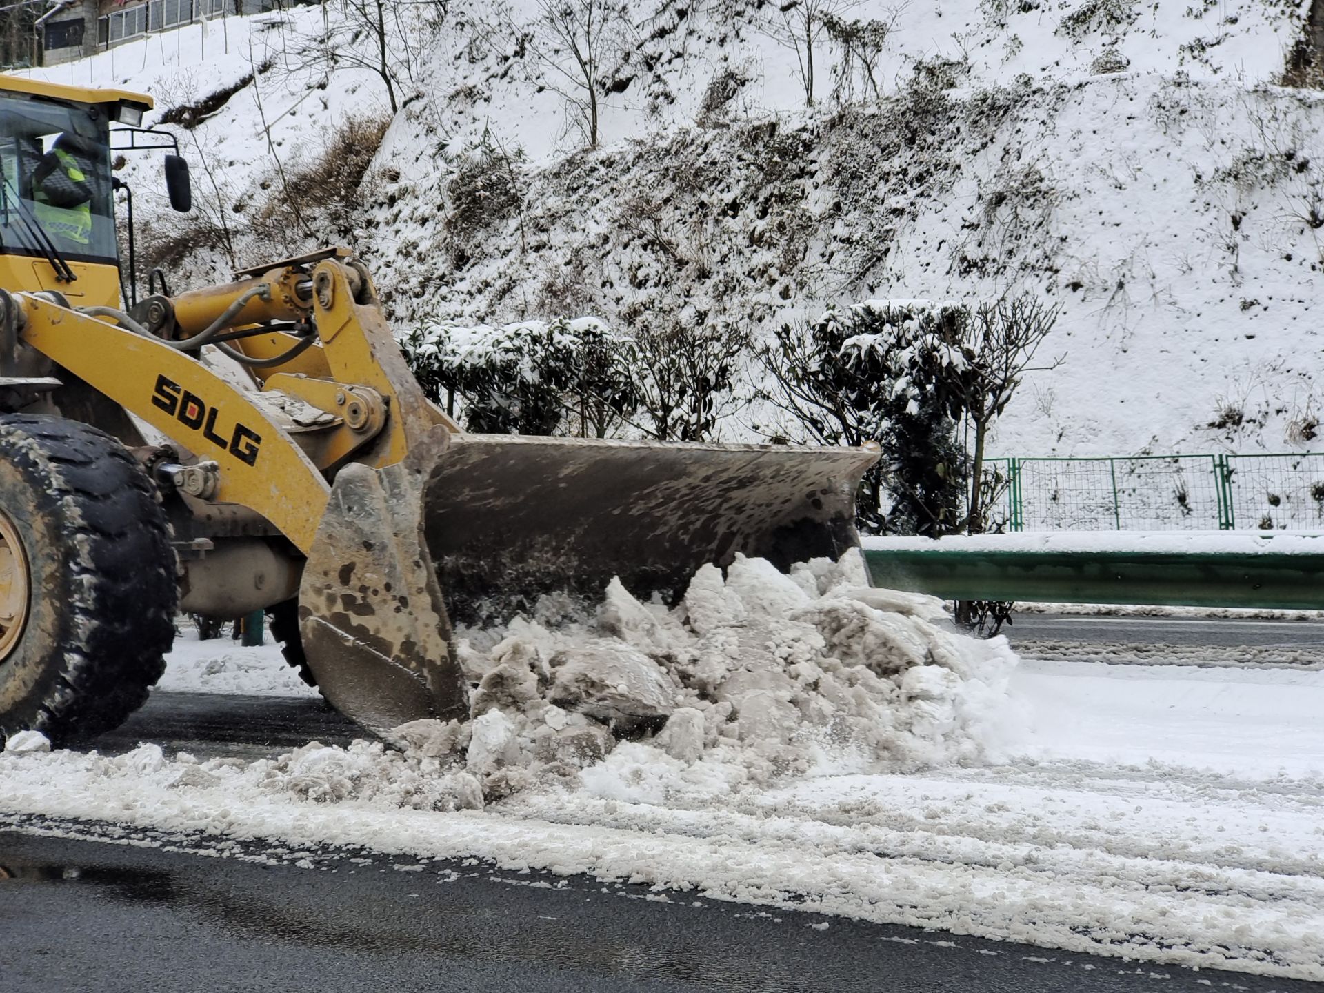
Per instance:
[[[120,724],[166,670],[177,597],[160,498],[124,448],[0,416],[0,743]]]

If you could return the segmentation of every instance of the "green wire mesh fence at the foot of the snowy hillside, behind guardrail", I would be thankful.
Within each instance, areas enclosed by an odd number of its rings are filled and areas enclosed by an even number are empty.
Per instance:
[[[989,459],[1008,531],[1317,530],[1324,454]]]

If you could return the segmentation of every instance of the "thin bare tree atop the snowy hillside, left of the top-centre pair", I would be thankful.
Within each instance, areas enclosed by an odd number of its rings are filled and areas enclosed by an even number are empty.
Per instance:
[[[604,61],[620,46],[629,7],[610,0],[538,0],[538,11],[526,36],[528,52],[543,83],[569,107],[571,126],[597,148]]]

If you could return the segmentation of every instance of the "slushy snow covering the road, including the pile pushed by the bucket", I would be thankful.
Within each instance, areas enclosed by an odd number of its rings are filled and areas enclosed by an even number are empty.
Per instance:
[[[1324,674],[1016,667],[851,575],[753,561],[674,612],[613,588],[592,622],[470,633],[479,716],[409,727],[404,751],[4,753],[0,812],[1324,980]],[[604,665],[620,682],[588,678]]]

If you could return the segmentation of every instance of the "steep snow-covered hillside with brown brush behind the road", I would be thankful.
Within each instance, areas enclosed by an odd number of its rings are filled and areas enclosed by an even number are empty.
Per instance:
[[[589,314],[767,334],[830,303],[1030,289],[1062,305],[1064,363],[1017,397],[998,454],[1317,444],[1324,93],[1275,85],[1304,0],[824,7],[854,33],[814,42],[808,107],[776,7],[630,5],[588,150],[536,4],[453,4],[402,53],[401,113],[331,218],[269,200],[339,124],[387,114],[369,70],[301,54],[334,5],[38,71],[162,110],[257,71],[180,128],[200,200],[244,265],[311,245],[305,226],[352,238],[401,330]],[[181,275],[224,275],[222,241],[177,252]]]

